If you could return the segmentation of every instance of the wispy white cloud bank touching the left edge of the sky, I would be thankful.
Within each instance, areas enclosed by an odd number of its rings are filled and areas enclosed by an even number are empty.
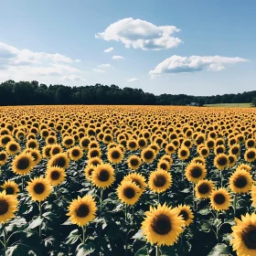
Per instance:
[[[48,76],[76,80],[80,69],[73,65],[79,61],[59,53],[18,49],[0,42],[0,80],[36,80]]]

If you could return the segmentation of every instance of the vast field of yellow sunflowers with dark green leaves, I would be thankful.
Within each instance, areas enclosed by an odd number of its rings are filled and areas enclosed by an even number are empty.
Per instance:
[[[0,107],[0,255],[256,255],[256,111]]]

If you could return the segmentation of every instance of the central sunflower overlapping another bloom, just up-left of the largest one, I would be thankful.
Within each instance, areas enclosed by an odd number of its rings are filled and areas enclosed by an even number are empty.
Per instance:
[[[131,180],[124,180],[119,187],[117,187],[117,195],[119,199],[127,204],[127,205],[134,205],[137,200],[139,199],[140,187],[138,187],[133,181]]]

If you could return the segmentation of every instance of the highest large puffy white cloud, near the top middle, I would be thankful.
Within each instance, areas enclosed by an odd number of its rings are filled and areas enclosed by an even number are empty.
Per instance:
[[[180,38],[173,37],[179,31],[175,26],[156,26],[145,20],[129,17],[112,23],[95,37],[106,41],[121,41],[126,48],[161,50],[175,48],[182,42]]]

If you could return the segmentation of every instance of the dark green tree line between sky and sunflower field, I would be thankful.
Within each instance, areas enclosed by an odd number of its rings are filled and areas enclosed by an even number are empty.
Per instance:
[[[43,104],[125,104],[125,105],[187,105],[196,102],[199,106],[215,103],[247,103],[256,97],[256,91],[214,96],[191,96],[187,94],[161,94],[144,92],[141,89],[119,88],[97,83],[70,87],[62,84],[49,85],[33,81],[6,80],[0,84],[0,105]]]

